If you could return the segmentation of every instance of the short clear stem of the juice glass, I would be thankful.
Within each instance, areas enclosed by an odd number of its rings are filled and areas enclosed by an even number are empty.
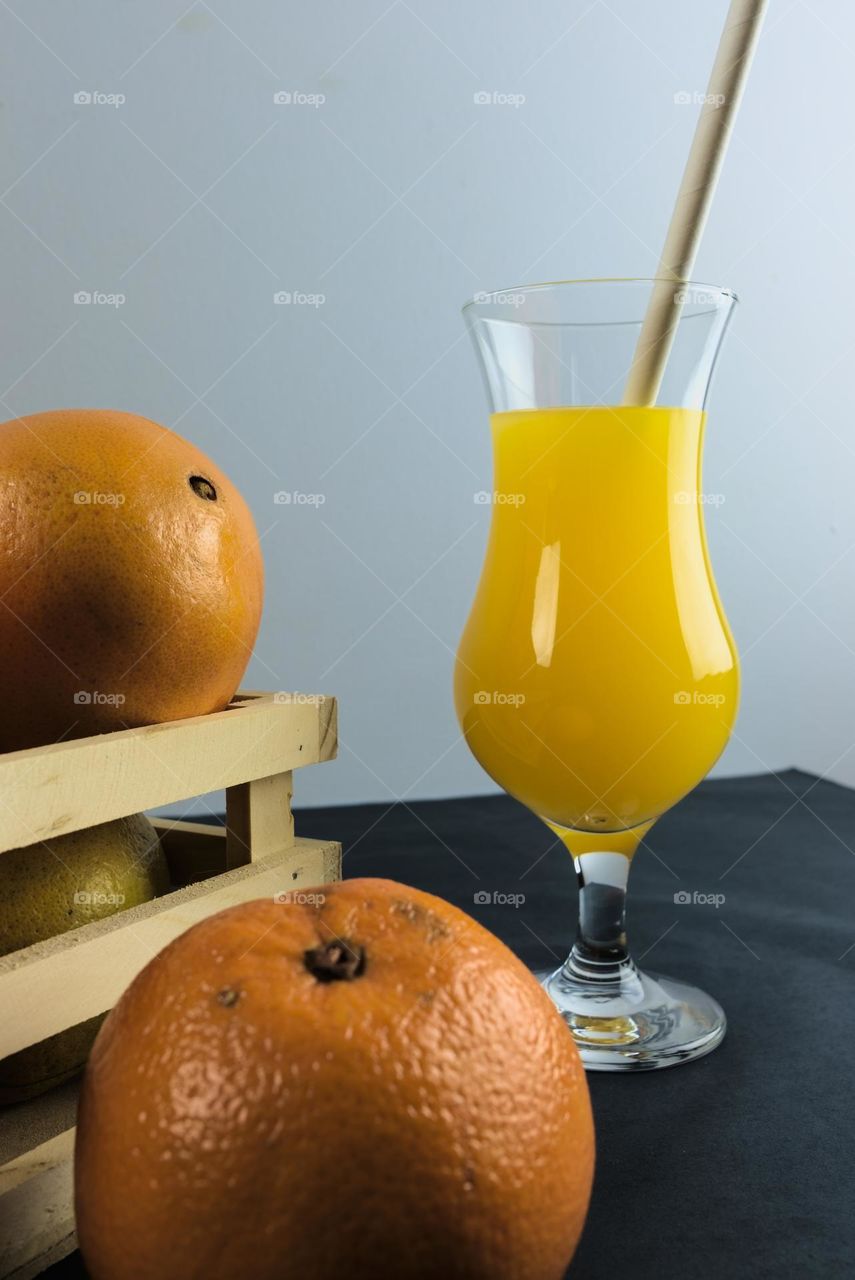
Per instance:
[[[625,987],[637,978],[626,945],[626,884],[631,860],[623,854],[580,854],[579,928],[563,977],[585,987]]]

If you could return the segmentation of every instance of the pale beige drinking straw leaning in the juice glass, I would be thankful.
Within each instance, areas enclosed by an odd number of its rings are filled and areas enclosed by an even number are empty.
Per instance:
[[[625,404],[654,404],[692,265],[721,173],[767,0],[731,0],[677,202],[623,392]]]

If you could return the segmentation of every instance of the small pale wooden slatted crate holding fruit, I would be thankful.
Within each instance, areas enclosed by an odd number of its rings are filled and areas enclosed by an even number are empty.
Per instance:
[[[0,957],[0,1057],[111,1009],[168,942],[256,897],[340,877],[340,846],[294,836],[292,771],[330,760],[333,698],[238,694],[214,716],[0,755],[0,856],[225,788],[225,827],[152,819],[170,893]],[[0,1277],[74,1248],[77,1082],[0,1110]]]

